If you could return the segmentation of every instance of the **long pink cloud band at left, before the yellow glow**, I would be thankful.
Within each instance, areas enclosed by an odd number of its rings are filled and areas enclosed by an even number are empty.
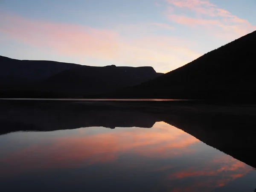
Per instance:
[[[68,55],[113,58],[118,50],[118,34],[64,23],[27,20],[14,15],[0,15],[0,32],[35,47],[49,47]],[[12,24],[11,24],[12,23]]]

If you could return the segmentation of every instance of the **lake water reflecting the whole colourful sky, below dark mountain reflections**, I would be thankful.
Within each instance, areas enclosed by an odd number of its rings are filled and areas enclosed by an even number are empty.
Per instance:
[[[252,192],[256,171],[155,122],[152,128],[0,135],[0,187],[3,192]]]

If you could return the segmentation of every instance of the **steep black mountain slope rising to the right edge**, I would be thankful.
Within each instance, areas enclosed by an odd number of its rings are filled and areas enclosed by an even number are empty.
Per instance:
[[[253,99],[256,96],[256,32],[157,79],[104,97]]]

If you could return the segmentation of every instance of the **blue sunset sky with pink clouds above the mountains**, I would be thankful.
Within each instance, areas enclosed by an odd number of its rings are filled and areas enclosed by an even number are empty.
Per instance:
[[[167,73],[256,30],[256,0],[0,0],[0,55]]]

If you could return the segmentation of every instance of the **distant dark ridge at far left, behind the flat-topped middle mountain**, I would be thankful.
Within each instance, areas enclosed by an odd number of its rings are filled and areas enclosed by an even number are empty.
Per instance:
[[[0,90],[43,81],[81,65],[56,61],[17,60],[0,56]]]

